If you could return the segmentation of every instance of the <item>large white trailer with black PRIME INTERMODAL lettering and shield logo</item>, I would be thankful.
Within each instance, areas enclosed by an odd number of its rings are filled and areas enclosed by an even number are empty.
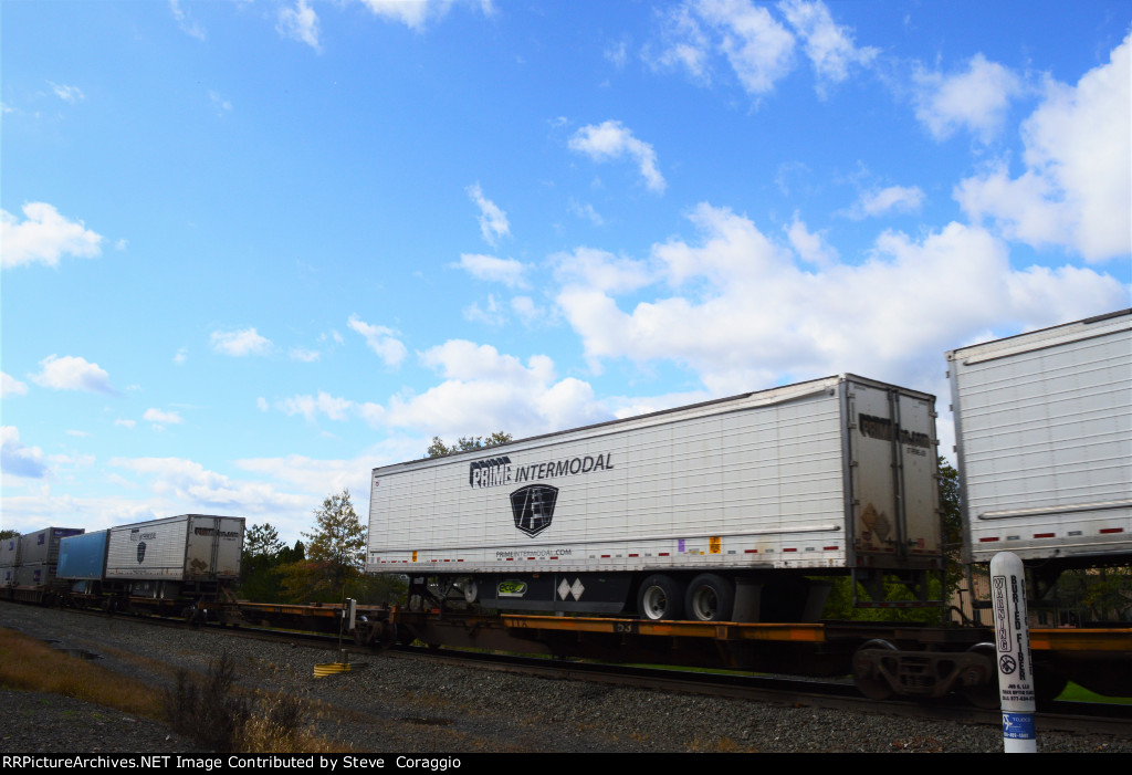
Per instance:
[[[486,609],[798,621],[943,561],[934,397],[854,374],[374,470],[367,572]]]

